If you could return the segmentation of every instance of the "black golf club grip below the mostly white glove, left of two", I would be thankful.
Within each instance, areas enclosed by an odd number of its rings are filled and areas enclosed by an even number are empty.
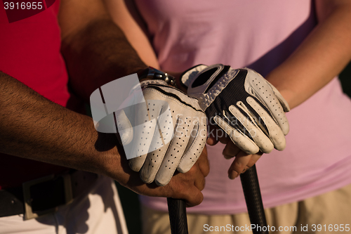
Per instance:
[[[180,199],[167,198],[169,221],[172,234],[188,234],[187,209],[185,202]]]

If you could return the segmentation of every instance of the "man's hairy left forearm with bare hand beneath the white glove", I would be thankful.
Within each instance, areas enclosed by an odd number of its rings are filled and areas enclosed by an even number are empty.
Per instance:
[[[110,176],[136,193],[174,197],[199,204],[206,152],[187,174],[173,176],[168,185],[145,184],[128,167],[114,134],[100,134],[93,119],[63,108],[0,72],[0,152],[31,160]]]

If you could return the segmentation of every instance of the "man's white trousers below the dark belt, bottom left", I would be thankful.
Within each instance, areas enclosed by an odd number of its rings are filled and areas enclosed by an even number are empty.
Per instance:
[[[22,214],[1,217],[0,233],[128,234],[128,230],[114,181],[99,176],[89,193],[59,207],[58,212],[27,221]]]

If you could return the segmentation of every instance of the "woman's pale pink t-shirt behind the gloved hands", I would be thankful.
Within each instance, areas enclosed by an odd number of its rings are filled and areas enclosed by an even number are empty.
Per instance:
[[[183,71],[199,63],[252,67],[266,75],[282,63],[317,24],[306,0],[135,0],[163,70]],[[282,77],[284,79],[284,77]],[[287,114],[291,130],[283,152],[257,163],[265,207],[303,200],[351,183],[351,101],[338,79]],[[246,212],[239,178],[231,181],[232,160],[224,145],[208,146],[211,171],[204,202],[188,212]],[[166,200],[142,197],[167,210]]]

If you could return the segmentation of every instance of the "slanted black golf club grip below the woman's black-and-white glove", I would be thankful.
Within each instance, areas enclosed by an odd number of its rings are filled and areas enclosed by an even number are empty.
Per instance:
[[[256,165],[253,165],[253,167],[249,168],[243,174],[240,174],[240,180],[241,186],[244,190],[246,207],[249,212],[251,224],[260,227],[267,227],[265,210],[263,209],[263,202],[260,193],[260,185],[258,184]],[[261,230],[256,230],[256,228],[253,228],[253,234],[268,234],[268,231],[263,231],[263,228],[260,229]]]

